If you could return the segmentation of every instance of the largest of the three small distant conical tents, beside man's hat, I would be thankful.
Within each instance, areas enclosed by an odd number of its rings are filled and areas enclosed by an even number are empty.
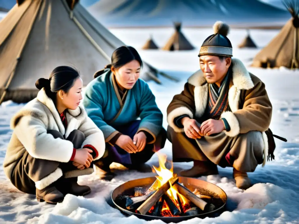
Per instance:
[[[175,33],[167,41],[162,50],[193,50],[194,47],[181,32],[181,23],[175,23]]]

